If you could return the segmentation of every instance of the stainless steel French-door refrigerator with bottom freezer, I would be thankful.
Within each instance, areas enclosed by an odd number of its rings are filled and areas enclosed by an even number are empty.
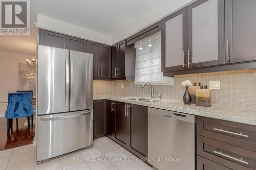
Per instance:
[[[93,144],[93,55],[38,45],[37,163]]]

